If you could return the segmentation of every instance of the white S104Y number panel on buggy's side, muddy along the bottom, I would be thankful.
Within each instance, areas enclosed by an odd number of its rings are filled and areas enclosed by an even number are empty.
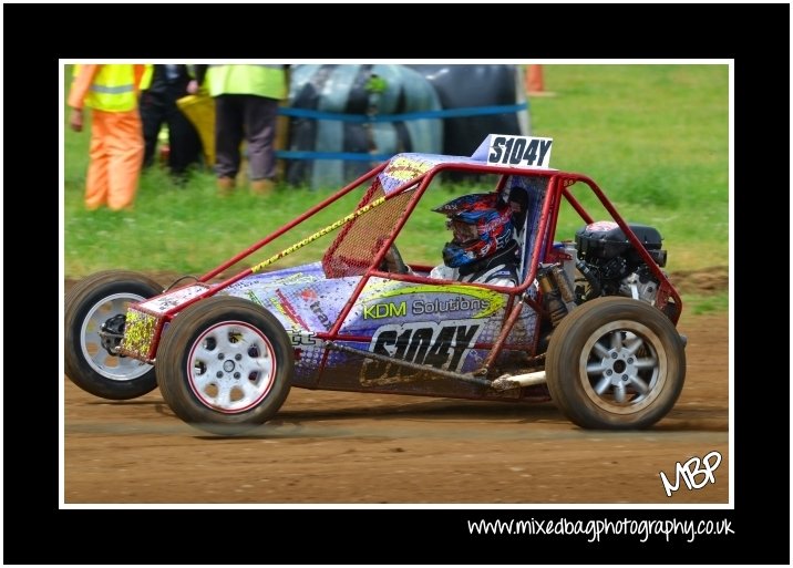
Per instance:
[[[372,337],[369,351],[411,363],[460,371],[482,327],[477,320],[381,326]],[[418,380],[421,374],[421,371],[368,360],[361,368],[360,382],[364,386],[392,384]]]

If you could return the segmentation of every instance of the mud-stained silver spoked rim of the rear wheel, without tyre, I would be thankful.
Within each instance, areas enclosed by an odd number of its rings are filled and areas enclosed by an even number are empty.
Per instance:
[[[612,321],[587,340],[579,361],[584,392],[599,407],[630,414],[663,390],[667,352],[660,338],[637,321]]]

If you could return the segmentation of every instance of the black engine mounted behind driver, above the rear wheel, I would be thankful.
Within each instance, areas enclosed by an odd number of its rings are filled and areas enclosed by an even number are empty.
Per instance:
[[[667,264],[662,237],[653,227],[629,225],[652,260]],[[627,296],[653,303],[658,280],[634,248],[622,229],[614,221],[597,221],[576,231],[576,268],[586,278],[588,290],[576,287],[578,303],[597,296]]]

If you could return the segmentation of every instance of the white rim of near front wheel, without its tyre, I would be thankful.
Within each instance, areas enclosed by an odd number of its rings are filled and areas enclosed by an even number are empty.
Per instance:
[[[267,396],[277,370],[272,344],[241,321],[225,321],[198,335],[187,358],[189,386],[206,406],[236,414]]]

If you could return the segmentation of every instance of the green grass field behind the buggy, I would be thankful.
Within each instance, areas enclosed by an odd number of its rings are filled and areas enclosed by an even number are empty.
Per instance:
[[[588,175],[626,219],[657,227],[669,251],[668,270],[727,266],[728,66],[545,65],[544,71],[545,87],[555,96],[533,97],[531,113],[533,134],[554,138],[550,165]],[[68,128],[64,136],[66,277],[106,268],[200,273],[338,189],[281,186],[267,197],[239,192],[220,199],[208,172],[177,187],[154,169],[142,177],[133,211],[86,211],[82,196],[89,137],[87,130],[75,134]],[[432,205],[470,190],[446,187],[446,195]],[[301,235],[344,213],[337,208],[322,215]],[[443,219],[429,209],[413,217],[411,226],[418,230],[399,239],[404,256],[437,264]],[[563,217],[560,234],[571,237],[579,226],[579,220]],[[287,260],[313,260],[316,255],[316,248],[307,248]]]

